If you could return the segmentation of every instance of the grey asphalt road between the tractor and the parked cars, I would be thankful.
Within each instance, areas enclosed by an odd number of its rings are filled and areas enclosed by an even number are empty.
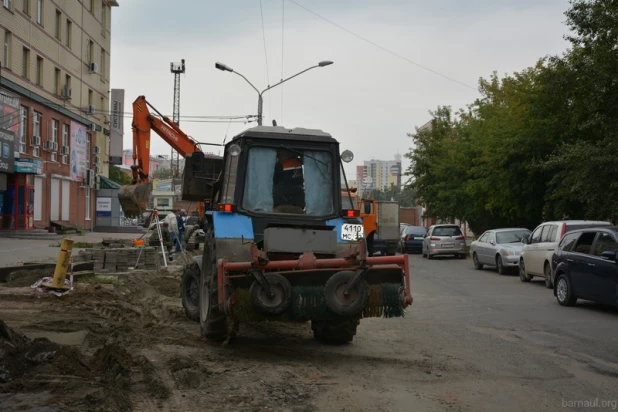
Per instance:
[[[615,307],[562,307],[542,281],[477,271],[470,258],[410,259],[414,303],[391,333],[425,356],[426,373],[442,370],[439,380],[414,385],[417,398],[431,401],[426,409],[436,401],[459,410],[618,409]]]

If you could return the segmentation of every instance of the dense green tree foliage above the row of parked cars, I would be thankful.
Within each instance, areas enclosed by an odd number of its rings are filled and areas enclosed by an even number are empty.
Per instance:
[[[427,214],[492,227],[618,218],[618,2],[573,0],[571,48],[430,112],[406,174]]]

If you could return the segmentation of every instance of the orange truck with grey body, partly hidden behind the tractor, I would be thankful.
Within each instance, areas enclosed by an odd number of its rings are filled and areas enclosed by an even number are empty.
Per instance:
[[[379,253],[393,256],[399,244],[399,203],[375,199],[359,199],[356,189],[341,190],[341,204],[360,211],[363,231],[370,256]]]

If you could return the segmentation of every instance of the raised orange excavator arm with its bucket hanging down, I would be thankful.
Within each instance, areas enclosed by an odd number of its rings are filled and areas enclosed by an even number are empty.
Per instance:
[[[148,108],[160,118],[150,114]],[[154,130],[163,140],[174,148],[182,157],[194,152],[201,152],[199,143],[183,132],[177,124],[155,109],[145,96],[139,96],[133,102],[133,180],[130,185],[121,186],[118,200],[124,215],[138,217],[146,211],[152,192],[150,174],[150,131]],[[198,216],[204,215],[203,202],[197,202]]]

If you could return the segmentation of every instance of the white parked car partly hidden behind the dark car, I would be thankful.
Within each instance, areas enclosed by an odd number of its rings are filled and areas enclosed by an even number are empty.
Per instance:
[[[545,222],[537,226],[528,238],[524,238],[524,248],[519,259],[519,278],[530,282],[534,276],[545,279],[545,286],[551,289],[551,259],[560,239],[577,229],[595,226],[611,226],[610,222],[595,220],[562,220]]]

